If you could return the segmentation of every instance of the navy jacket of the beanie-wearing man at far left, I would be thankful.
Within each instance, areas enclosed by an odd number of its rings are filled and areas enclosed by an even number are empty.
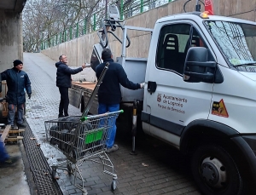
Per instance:
[[[26,93],[31,94],[31,83],[26,72],[18,71],[15,67],[1,73],[2,80],[6,80],[8,91],[6,100],[9,104],[23,104]],[[25,90],[26,89],[26,93]]]

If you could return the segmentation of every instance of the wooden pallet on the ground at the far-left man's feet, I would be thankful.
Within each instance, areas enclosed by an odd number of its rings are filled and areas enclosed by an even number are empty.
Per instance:
[[[24,132],[25,129],[11,129],[11,125],[6,125],[5,129],[0,129],[0,135],[2,141],[20,141],[23,139],[20,136],[21,132]],[[19,135],[10,135],[10,134],[19,134]]]

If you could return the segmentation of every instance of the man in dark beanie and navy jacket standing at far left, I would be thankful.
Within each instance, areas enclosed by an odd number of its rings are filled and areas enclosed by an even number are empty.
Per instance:
[[[23,63],[20,60],[14,61],[14,67],[1,73],[2,80],[6,80],[8,91],[6,100],[8,102],[8,123],[15,128],[15,109],[17,107],[17,125],[26,128],[23,123],[24,104],[26,93],[31,98],[31,83],[26,72],[22,71]],[[26,89],[26,93],[25,93]]]

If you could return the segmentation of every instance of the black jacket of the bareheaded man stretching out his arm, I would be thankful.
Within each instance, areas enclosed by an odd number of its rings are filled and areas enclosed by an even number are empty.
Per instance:
[[[56,73],[57,87],[71,88],[71,81],[72,81],[71,75],[77,74],[83,71],[82,67],[72,69],[61,61],[56,62],[55,66],[57,67],[57,73]]]

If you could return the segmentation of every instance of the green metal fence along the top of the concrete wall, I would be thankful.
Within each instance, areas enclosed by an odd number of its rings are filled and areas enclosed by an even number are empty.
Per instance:
[[[117,5],[119,8],[120,20],[125,20],[134,15],[141,14],[173,1],[174,0],[126,0],[124,3],[124,0],[121,0],[119,5]],[[74,26],[69,26],[63,32],[59,32],[48,39],[44,39],[41,42],[41,50],[81,37],[86,33],[97,31],[101,28],[102,18],[105,18],[105,15],[105,8],[97,10],[91,17],[79,21],[79,23]]]

